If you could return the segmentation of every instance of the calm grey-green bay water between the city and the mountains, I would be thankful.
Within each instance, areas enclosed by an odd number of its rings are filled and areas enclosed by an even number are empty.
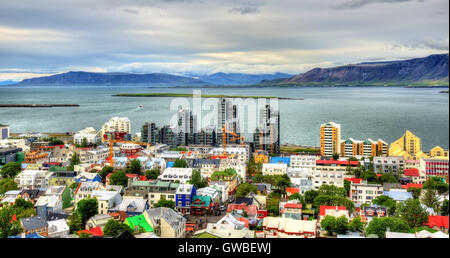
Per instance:
[[[281,142],[319,145],[320,124],[341,124],[342,139],[381,138],[388,143],[406,129],[422,139],[425,150],[449,145],[449,95],[442,89],[406,88],[211,88],[204,94],[298,97],[280,100]],[[128,117],[133,132],[145,122],[168,124],[171,98],[112,97],[116,93],[177,92],[187,88],[12,87],[0,86],[0,103],[71,103],[70,108],[0,108],[0,124],[12,132],[76,132],[100,127],[113,116]],[[138,109],[139,104],[144,106]]]

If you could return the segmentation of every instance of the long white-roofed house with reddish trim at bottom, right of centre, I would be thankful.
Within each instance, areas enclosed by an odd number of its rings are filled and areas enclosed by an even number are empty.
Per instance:
[[[265,238],[315,238],[317,235],[316,220],[265,217],[262,226]]]

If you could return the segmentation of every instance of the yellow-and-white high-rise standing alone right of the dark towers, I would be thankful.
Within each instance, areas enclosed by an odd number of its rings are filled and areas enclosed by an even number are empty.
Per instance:
[[[341,153],[341,125],[328,122],[320,126],[320,155]]]

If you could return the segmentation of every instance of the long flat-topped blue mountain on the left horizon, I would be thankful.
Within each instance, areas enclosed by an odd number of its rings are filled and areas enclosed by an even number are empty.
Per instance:
[[[164,73],[91,73],[67,72],[25,79],[17,85],[204,85],[200,80]]]

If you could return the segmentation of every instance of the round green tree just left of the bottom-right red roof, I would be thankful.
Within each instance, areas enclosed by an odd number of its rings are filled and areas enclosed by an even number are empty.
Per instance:
[[[408,199],[397,207],[398,217],[408,223],[411,228],[420,227],[428,222],[428,212],[417,199]]]

